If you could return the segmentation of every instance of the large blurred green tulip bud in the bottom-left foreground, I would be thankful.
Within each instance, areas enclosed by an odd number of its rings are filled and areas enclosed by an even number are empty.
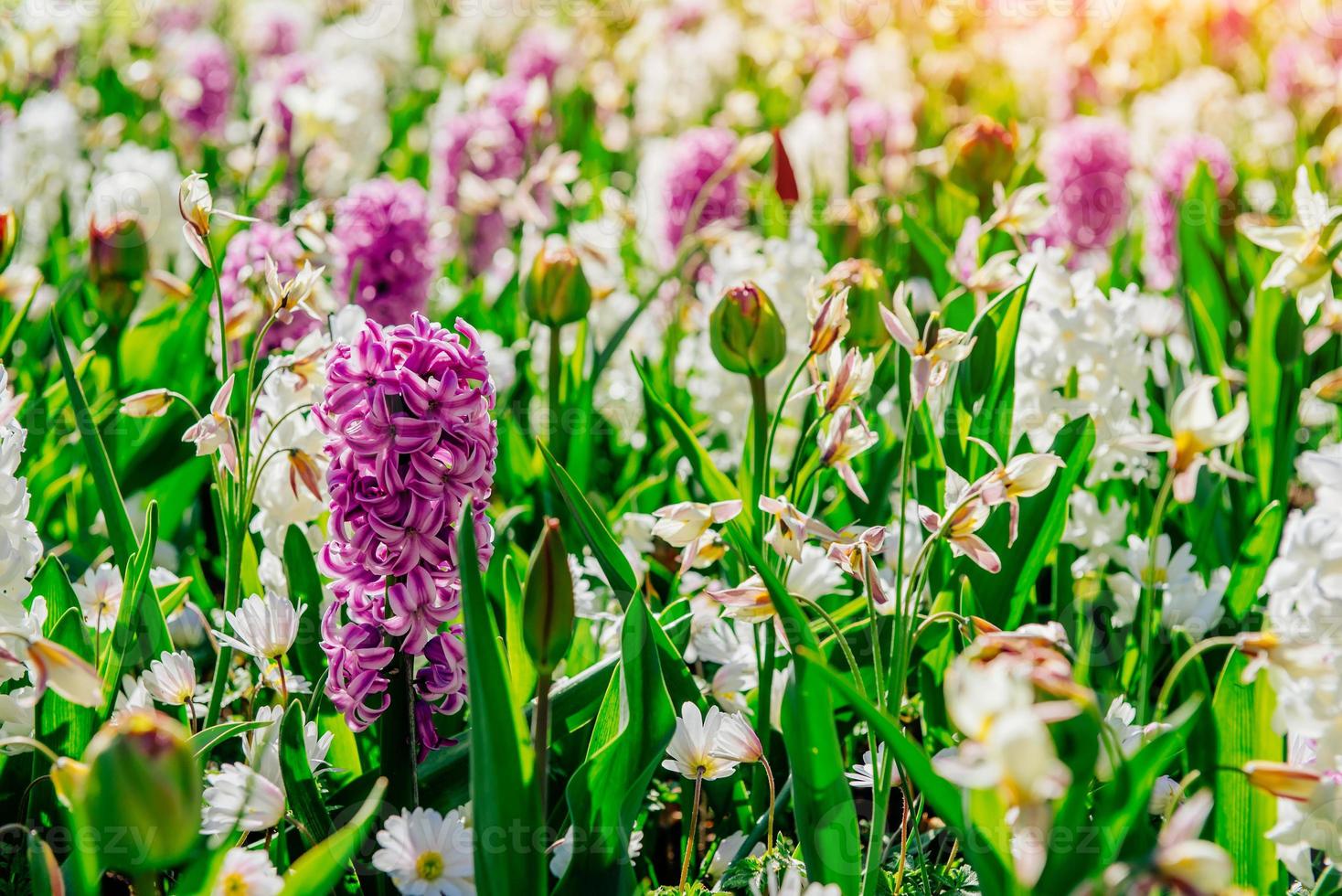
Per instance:
[[[187,728],[154,710],[136,710],[94,735],[85,763],[85,818],[95,830],[129,833],[119,849],[110,849],[115,841],[105,844],[107,868],[168,868],[191,853],[200,830],[201,779]]]

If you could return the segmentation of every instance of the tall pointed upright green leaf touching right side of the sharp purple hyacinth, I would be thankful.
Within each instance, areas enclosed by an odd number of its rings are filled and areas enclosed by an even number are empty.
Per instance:
[[[552,468],[553,469],[553,468]],[[470,515],[458,528],[462,606],[466,616],[466,669],[471,693],[471,805],[476,832],[538,832],[541,802],[533,781],[531,742],[513,703],[498,626],[480,582],[475,528]],[[545,853],[509,850],[475,838],[475,881],[483,893],[526,896],[546,889]]]

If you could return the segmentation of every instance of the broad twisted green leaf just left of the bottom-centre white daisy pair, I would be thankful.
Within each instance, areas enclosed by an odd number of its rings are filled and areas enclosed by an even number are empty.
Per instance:
[[[576,849],[557,892],[633,892],[629,834],[663,750],[675,710],[662,680],[652,637],[656,621],[632,601],[620,632],[620,665],[607,688],[586,759],[566,790]]]

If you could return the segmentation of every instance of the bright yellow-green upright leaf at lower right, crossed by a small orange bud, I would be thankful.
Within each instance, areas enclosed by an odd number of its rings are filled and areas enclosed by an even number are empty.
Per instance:
[[[1216,807],[1212,816],[1216,842],[1235,856],[1235,883],[1260,893],[1274,892],[1276,846],[1266,834],[1276,824],[1276,798],[1249,785],[1232,771],[1251,759],[1282,762],[1284,742],[1272,730],[1276,696],[1267,676],[1244,684],[1240,677],[1248,660],[1232,651],[1212,699],[1216,716],[1219,770]]]

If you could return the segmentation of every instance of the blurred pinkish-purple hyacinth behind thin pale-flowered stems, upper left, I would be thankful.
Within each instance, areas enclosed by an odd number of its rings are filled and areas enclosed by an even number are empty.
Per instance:
[[[224,296],[224,314],[229,325],[250,319],[255,326],[266,319],[267,255],[275,259],[279,278],[289,280],[298,274],[306,254],[293,231],[267,221],[256,221],[228,240],[224,260],[219,266],[219,291]],[[211,313],[213,311],[211,306]],[[289,323],[276,321],[266,331],[262,351],[293,349],[318,326],[314,317],[302,311],[294,314]]]

